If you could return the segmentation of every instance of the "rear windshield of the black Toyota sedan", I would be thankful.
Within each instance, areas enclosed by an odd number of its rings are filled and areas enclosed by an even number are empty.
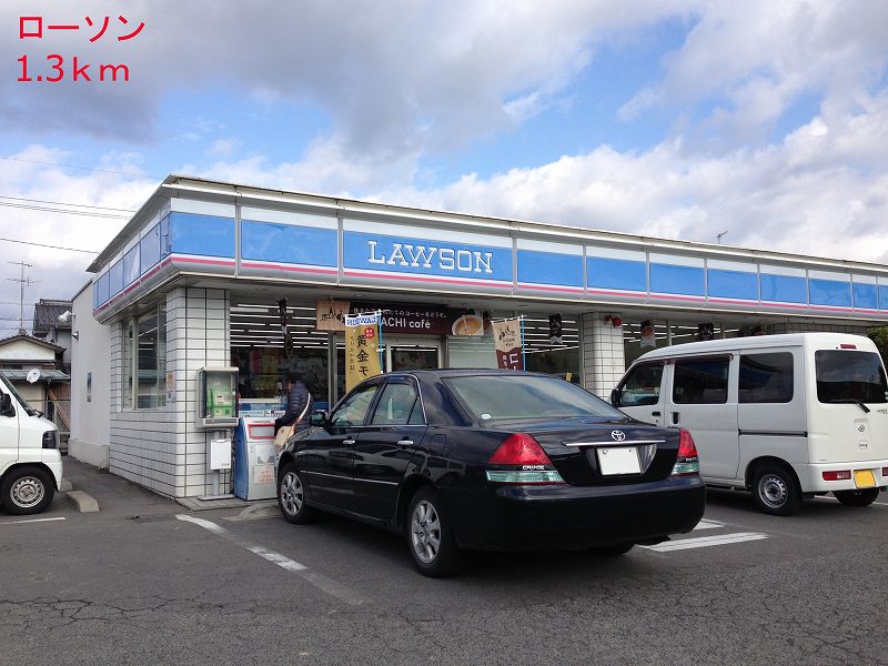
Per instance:
[[[467,375],[447,377],[447,387],[476,418],[539,418],[626,415],[603,400],[555,377],[525,375]]]

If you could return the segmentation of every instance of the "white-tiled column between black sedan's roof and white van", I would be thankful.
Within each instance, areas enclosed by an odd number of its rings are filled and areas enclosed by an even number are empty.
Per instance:
[[[619,313],[583,314],[583,385],[607,400],[626,370],[623,350],[623,321]],[[614,325],[614,324],[618,325]]]

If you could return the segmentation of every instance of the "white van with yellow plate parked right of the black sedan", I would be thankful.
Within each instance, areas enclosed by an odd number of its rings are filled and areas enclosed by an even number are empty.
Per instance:
[[[610,394],[630,416],[690,431],[707,484],[789,515],[833,492],[867,506],[888,486],[888,382],[868,337],[798,333],[648,352]]]

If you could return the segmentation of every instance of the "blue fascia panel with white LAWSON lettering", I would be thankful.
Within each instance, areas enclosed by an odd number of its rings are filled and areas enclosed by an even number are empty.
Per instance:
[[[346,231],[346,269],[512,281],[512,249]]]

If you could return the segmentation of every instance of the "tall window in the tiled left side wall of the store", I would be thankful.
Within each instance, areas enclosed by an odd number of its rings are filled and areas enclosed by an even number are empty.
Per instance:
[[[167,312],[163,306],[124,324],[123,407],[167,404]]]

